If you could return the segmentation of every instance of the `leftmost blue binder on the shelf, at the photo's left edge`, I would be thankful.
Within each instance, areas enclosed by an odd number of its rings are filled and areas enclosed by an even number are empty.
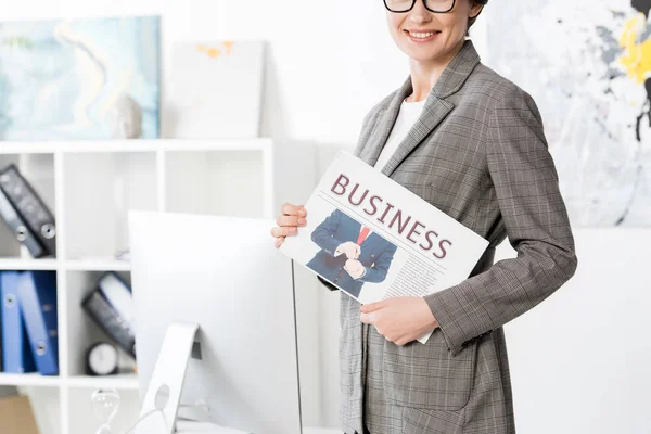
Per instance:
[[[0,272],[2,370],[10,373],[36,371],[23,315],[18,307],[18,271]]]

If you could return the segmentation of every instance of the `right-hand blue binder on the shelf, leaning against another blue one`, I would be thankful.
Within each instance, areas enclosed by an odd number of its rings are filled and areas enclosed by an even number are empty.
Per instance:
[[[56,273],[24,271],[18,278],[18,299],[38,371],[59,374]]]

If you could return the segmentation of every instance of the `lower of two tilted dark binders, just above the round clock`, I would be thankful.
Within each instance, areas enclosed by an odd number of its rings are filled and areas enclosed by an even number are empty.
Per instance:
[[[88,316],[128,355],[136,359],[136,336],[129,323],[106,299],[100,289],[95,289],[81,301]]]

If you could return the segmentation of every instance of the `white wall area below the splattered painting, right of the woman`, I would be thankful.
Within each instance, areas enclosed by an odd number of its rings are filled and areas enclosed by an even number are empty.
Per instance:
[[[505,327],[519,432],[651,432],[649,229],[574,229],[573,279]],[[496,260],[515,256],[502,243]]]

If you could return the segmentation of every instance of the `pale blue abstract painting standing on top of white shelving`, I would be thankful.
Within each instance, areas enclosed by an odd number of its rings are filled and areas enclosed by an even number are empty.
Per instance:
[[[159,58],[156,16],[0,23],[0,140],[111,139],[125,116],[157,138]]]

